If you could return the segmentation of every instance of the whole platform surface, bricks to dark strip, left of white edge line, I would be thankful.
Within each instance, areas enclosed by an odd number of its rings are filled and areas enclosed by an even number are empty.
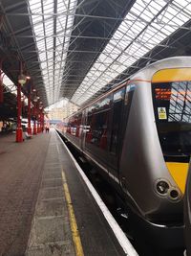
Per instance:
[[[0,151],[0,255],[127,255],[54,130]]]

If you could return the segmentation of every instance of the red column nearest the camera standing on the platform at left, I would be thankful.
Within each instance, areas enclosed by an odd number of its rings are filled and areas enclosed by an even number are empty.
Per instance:
[[[21,115],[22,115],[22,105],[21,105],[21,84],[17,85],[17,128],[16,128],[16,142],[23,142],[23,129],[21,126]]]

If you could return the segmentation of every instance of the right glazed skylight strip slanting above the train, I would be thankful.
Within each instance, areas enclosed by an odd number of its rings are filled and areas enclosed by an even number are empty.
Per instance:
[[[75,91],[72,102],[82,105],[178,30],[190,16],[189,0],[137,0]]]

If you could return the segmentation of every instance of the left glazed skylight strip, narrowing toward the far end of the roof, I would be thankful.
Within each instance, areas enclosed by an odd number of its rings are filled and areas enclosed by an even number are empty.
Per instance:
[[[36,37],[49,105],[59,98],[69,47],[69,40],[65,38],[66,35],[67,37],[71,35],[74,23],[74,15],[69,13],[74,13],[76,2],[76,0],[29,0],[33,33]]]

